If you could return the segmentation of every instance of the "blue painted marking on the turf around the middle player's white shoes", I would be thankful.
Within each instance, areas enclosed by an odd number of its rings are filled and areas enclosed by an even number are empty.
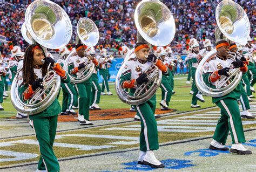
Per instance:
[[[166,169],[183,169],[183,168],[196,166],[195,164],[191,164],[190,160],[167,159],[167,160],[163,160],[161,162],[165,164]],[[150,171],[150,170],[155,169],[155,168],[151,168],[150,166],[145,166],[145,165],[142,165],[142,164],[138,164],[138,161],[122,163],[122,165],[130,166],[130,167],[125,167],[124,168],[124,169],[127,169],[127,170]]]

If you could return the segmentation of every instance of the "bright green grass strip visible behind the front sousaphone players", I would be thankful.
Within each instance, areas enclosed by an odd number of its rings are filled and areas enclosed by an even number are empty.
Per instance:
[[[174,78],[180,78],[180,77],[183,77],[183,79],[174,80],[174,91],[176,91],[176,94],[172,95],[170,108],[177,109],[178,111],[193,111],[194,109],[190,108],[192,95],[189,94],[189,92],[191,90],[191,84],[190,85],[185,84],[187,75],[178,75]],[[110,91],[113,93],[113,95],[111,96],[102,95],[100,97],[99,106],[102,109],[130,107],[130,105],[124,104],[122,101],[118,99],[116,91],[114,90],[113,83],[110,83]],[[10,95],[10,93],[8,94]],[[62,93],[60,93],[59,95],[60,105],[62,104],[62,98],[63,98]],[[212,104],[212,98],[204,97],[204,99],[205,99],[204,103],[198,101],[198,104],[201,106],[201,108],[215,106],[214,104]],[[160,105],[159,105],[160,101],[161,101],[161,89],[159,88],[157,91],[157,108],[160,108]],[[0,118],[6,118],[6,117],[16,115],[16,109],[11,104],[10,96],[6,100],[4,100],[2,105],[4,107],[4,111],[0,112]]]

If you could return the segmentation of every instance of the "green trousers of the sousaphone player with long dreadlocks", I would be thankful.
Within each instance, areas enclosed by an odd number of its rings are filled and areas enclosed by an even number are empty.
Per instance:
[[[37,168],[39,170],[59,171],[59,163],[52,149],[56,135],[58,115],[37,118],[31,121],[41,154]]]

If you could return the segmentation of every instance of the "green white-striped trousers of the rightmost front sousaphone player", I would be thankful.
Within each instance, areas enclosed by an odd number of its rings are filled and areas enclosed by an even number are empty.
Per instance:
[[[231,132],[232,142],[244,143],[245,135],[242,128],[242,120],[239,112],[237,100],[232,98],[225,98],[216,102],[220,107],[220,119],[217,123],[213,139],[226,144],[228,132]]]

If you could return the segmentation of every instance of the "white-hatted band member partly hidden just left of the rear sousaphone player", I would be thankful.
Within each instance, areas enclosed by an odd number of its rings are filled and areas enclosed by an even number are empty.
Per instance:
[[[64,66],[65,59],[69,56],[69,49],[64,46],[59,50],[60,59],[57,60],[57,63],[60,66]],[[60,87],[62,88],[63,99],[62,99],[62,112],[60,115],[76,115],[76,112],[72,112],[73,105],[77,104],[77,92],[75,87],[71,82],[60,82]]]

